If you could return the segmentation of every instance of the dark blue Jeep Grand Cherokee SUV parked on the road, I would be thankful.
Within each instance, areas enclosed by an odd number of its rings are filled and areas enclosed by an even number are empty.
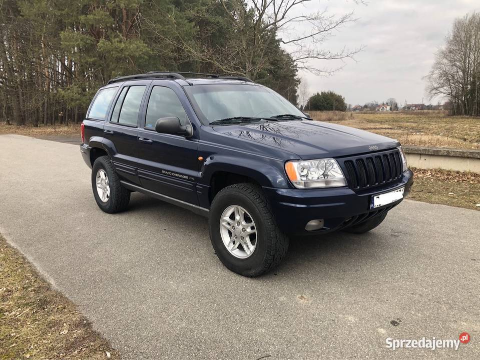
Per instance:
[[[103,211],[140,191],[208,216],[217,256],[245,276],[276,266],[288,235],[371,230],[413,182],[398,141],[313,121],[240,76],[114,78],[82,140]]]

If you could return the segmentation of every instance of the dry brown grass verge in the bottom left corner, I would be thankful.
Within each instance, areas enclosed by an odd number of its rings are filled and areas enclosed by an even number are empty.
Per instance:
[[[119,358],[77,306],[0,235],[0,357]]]

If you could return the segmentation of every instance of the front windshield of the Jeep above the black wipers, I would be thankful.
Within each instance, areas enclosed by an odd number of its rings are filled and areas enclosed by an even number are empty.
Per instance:
[[[287,99],[264,86],[207,84],[185,86],[208,123],[231,117],[262,117],[291,114],[305,117]],[[200,114],[199,114],[200,115]],[[260,119],[259,119],[260,120]]]

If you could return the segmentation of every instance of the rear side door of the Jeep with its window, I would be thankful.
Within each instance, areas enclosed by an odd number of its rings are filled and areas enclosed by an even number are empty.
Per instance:
[[[107,146],[113,146],[112,162],[119,176],[131,183],[140,184],[137,175],[137,137],[140,109],[150,81],[124,83],[104,126]],[[110,147],[109,146],[109,147]]]

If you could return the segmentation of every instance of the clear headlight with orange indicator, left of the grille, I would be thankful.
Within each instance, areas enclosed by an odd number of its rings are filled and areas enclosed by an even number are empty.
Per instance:
[[[347,180],[335,159],[288,161],[288,178],[297,188],[345,186]]]

